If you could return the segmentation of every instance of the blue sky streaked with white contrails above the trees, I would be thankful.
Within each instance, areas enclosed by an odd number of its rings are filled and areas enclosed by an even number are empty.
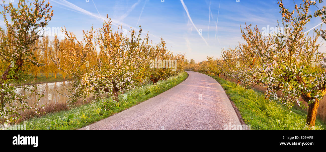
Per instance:
[[[246,22],[262,29],[276,27],[277,20],[281,21],[276,0],[50,0],[50,3],[54,16],[48,27],[66,27],[82,39],[83,29],[89,30],[92,25],[100,28],[108,14],[113,29],[118,24],[125,29],[141,25],[143,36],[149,31],[154,43],[162,37],[172,52],[185,53],[188,60],[195,61],[205,60],[207,55],[219,57],[221,48],[243,42],[240,24]],[[283,3],[294,9],[293,0]],[[320,22],[312,19],[307,30]],[[3,20],[0,26],[4,27]],[[324,50],[322,46],[321,51]]]

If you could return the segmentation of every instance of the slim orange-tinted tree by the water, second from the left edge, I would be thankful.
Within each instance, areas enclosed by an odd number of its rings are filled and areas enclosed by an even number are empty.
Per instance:
[[[70,86],[65,89],[70,94],[65,92],[62,95],[68,97],[68,106],[71,106],[78,99],[83,98],[86,100],[85,89],[87,86],[81,85],[83,75],[89,71],[86,67],[87,56],[94,50],[93,45],[93,27],[90,31],[83,30],[83,40],[78,41],[76,36],[72,32],[67,32],[66,29],[62,29],[66,33],[66,37],[61,42],[58,39],[54,39],[54,50],[59,50],[60,56],[52,56],[52,61],[59,70],[63,73],[67,73],[70,76]]]

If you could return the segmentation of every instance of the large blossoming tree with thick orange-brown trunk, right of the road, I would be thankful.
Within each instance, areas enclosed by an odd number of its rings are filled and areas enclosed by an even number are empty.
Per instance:
[[[322,68],[325,54],[318,51],[318,36],[305,34],[305,25],[309,22],[305,17],[308,16],[310,1],[295,5],[292,12],[284,7],[281,0],[278,4],[283,17],[282,25],[289,29],[286,35],[275,32],[263,38],[259,36],[257,27],[252,31],[251,26],[246,25],[242,33],[247,43],[240,44],[237,55],[247,62],[247,68],[232,73],[235,70],[230,67],[230,76],[247,84],[267,87],[267,97],[272,95],[277,98],[276,91],[281,91],[278,100],[289,108],[295,103],[304,107],[299,100],[301,97],[308,104],[306,124],[311,128],[315,125],[319,101],[326,94],[326,71]],[[224,58],[233,65],[234,57],[228,54],[230,51],[224,53]]]

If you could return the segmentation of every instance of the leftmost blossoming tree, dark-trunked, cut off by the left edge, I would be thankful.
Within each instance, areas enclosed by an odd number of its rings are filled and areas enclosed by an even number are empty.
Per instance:
[[[0,69],[0,117],[6,125],[19,118],[20,111],[38,111],[39,99],[32,103],[26,101],[31,95],[38,93],[35,86],[22,85],[30,78],[22,68],[27,63],[41,66],[34,54],[39,48],[34,44],[41,37],[39,29],[48,25],[53,13],[52,6],[45,0],[19,0],[17,8],[12,3],[1,6],[4,8],[1,14],[7,29],[5,32],[0,27],[0,60],[5,65]],[[31,94],[18,94],[17,89],[30,91]]]

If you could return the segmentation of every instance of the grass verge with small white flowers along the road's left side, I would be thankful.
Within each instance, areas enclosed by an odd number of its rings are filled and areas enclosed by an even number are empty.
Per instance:
[[[132,106],[135,106],[149,98],[152,98],[164,91],[169,90],[175,85],[183,82],[188,77],[186,72],[181,72],[176,76],[170,77],[167,81],[159,81],[156,85],[143,85],[138,89],[128,91],[126,100],[120,95],[120,102],[112,102],[111,99],[93,101],[90,104],[73,108],[67,111],[47,114],[40,118],[32,118],[24,121],[26,129],[79,129],[91,123],[97,122],[113,114],[121,112]],[[103,108],[103,104],[110,103],[112,107],[109,110]]]

